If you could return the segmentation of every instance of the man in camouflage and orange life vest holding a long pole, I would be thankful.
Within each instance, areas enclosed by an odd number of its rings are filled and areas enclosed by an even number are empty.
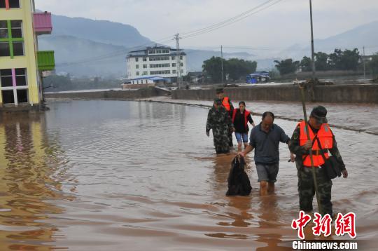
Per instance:
[[[327,109],[325,107],[314,107],[309,116],[309,136],[311,140],[307,139],[305,122],[302,121],[297,125],[291,137],[290,150],[296,155],[295,164],[298,171],[300,210],[311,212],[312,200],[315,195],[314,178],[312,177],[311,159],[309,157],[309,150],[311,149],[316,183],[318,184],[318,196],[321,203],[320,212],[323,215],[329,214],[333,217],[331,203],[332,180],[328,177],[327,170],[325,170],[323,154],[325,158],[329,158],[329,151],[332,156],[335,156],[344,178],[348,177],[348,172],[345,169],[339,149],[337,149],[335,135],[333,135],[330,126],[328,126],[326,115]],[[318,145],[318,142],[320,142],[321,146]]]

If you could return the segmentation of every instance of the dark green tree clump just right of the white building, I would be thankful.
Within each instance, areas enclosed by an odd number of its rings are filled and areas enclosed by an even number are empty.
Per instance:
[[[239,81],[245,79],[248,74],[256,71],[257,62],[249,60],[241,60],[238,58],[223,59],[224,77],[228,74],[230,81]],[[204,74],[206,74],[211,82],[220,83],[222,81],[222,58],[211,57],[205,60],[202,65]]]

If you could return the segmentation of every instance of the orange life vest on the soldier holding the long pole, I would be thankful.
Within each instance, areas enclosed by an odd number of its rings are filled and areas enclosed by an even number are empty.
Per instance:
[[[306,124],[304,123],[304,121],[302,121],[298,124],[298,126],[300,126],[300,146],[303,146],[308,140],[306,133]],[[318,140],[314,141],[316,135],[318,135],[318,139],[321,142],[321,147],[318,146]],[[333,147],[333,135],[332,131],[330,130],[330,126],[328,126],[328,124],[326,123],[322,124],[317,134],[314,134],[314,132],[311,130],[311,127],[309,126],[309,136],[310,140],[314,142],[311,148],[311,150],[313,151],[312,159],[314,161],[314,166],[317,167],[323,165],[324,158],[320,150],[332,149]],[[328,151],[324,153],[324,156],[325,158],[329,158]],[[303,155],[303,165],[311,167],[311,159],[309,157],[309,154]]]

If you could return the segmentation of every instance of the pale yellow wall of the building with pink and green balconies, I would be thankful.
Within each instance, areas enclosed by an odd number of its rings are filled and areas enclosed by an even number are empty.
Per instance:
[[[22,20],[25,55],[0,57],[0,69],[27,68],[29,104],[39,103],[38,72],[36,61],[36,36],[33,27],[34,4],[31,0],[20,0],[20,8],[0,9],[0,20]],[[0,104],[3,103],[0,92]]]

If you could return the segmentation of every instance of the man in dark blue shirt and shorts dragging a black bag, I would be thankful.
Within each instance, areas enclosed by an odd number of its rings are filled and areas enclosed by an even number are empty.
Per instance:
[[[248,147],[239,154],[245,156],[255,149],[255,165],[260,182],[260,195],[274,192],[274,182],[279,171],[279,142],[290,144],[290,138],[274,122],[274,114],[266,111],[262,121],[251,131]],[[290,152],[290,161],[294,162],[294,154]]]

